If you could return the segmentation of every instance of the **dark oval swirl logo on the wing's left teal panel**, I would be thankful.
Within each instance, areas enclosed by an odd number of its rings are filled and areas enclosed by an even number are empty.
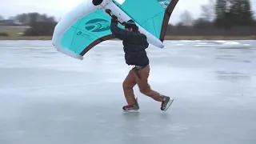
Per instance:
[[[102,32],[110,30],[110,22],[106,19],[95,18],[86,22],[86,30],[91,32]]]

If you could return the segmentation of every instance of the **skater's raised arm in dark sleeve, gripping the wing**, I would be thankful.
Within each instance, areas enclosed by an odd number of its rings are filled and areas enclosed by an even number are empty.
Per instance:
[[[133,35],[132,34],[133,32],[128,31],[128,30],[123,30],[118,27],[118,20],[115,16],[113,16],[111,19],[110,30],[117,38],[119,38],[121,40],[130,38]]]

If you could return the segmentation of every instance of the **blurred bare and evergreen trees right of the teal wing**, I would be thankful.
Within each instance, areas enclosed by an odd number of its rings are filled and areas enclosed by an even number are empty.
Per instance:
[[[171,19],[170,19],[171,20]],[[194,19],[190,11],[181,14],[180,22],[170,25],[168,35],[256,35],[256,19],[250,0],[209,0]]]

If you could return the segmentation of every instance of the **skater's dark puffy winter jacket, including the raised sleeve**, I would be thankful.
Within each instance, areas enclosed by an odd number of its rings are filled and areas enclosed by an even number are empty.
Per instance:
[[[122,40],[127,65],[146,66],[149,64],[149,58],[146,55],[149,43],[146,41],[145,34],[123,30],[118,27],[117,22],[111,22],[110,30],[116,38]]]

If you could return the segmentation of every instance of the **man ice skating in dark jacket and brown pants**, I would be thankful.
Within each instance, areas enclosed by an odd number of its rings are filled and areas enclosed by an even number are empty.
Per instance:
[[[138,26],[133,20],[126,22],[125,30],[119,28],[118,18],[115,15],[112,15],[110,30],[116,38],[122,40],[126,64],[134,66],[122,83],[123,92],[128,104],[123,106],[122,109],[125,111],[139,109],[133,90],[134,86],[138,84],[142,94],[153,98],[157,102],[162,102],[160,109],[166,111],[174,99],[159,94],[150,88],[148,83],[150,62],[146,54],[146,48],[149,46],[149,43],[146,40],[146,35],[139,32]]]

